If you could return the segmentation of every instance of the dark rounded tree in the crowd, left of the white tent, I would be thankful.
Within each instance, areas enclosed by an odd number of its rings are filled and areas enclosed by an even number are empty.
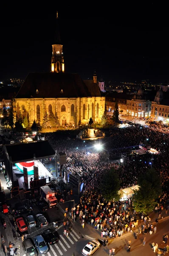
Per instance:
[[[113,199],[118,201],[120,199],[120,196],[118,195],[119,189],[120,180],[118,174],[113,168],[107,170],[100,183],[101,194],[107,201],[112,201]]]

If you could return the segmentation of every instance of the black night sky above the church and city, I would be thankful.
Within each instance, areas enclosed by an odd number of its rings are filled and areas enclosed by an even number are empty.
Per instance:
[[[50,72],[56,10],[65,72],[92,79],[96,70],[98,80],[102,76],[106,82],[168,81],[168,23],[163,25],[165,16],[161,19],[156,12],[149,12],[153,4],[148,7],[139,12],[137,6],[132,6],[131,12],[124,12],[125,8],[123,12],[115,8],[109,12],[102,8],[77,11],[80,6],[70,6],[70,11],[56,6],[1,9],[0,81],[25,79],[30,72]]]

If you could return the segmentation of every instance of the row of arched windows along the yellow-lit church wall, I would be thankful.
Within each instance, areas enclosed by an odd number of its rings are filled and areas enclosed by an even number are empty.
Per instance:
[[[22,105],[21,109],[24,112],[25,106]],[[65,105],[62,105],[61,112],[65,112],[65,111],[66,111],[66,107],[65,107]],[[74,105],[72,104],[71,105],[71,116],[74,116],[74,111],[75,111],[75,108],[74,108]],[[49,115],[52,113],[52,105],[51,104],[48,106],[48,113],[49,113]],[[83,119],[85,119],[85,116],[86,116],[86,105],[83,104]],[[93,103],[92,103],[92,109],[91,109],[91,116],[92,116],[92,118],[94,117],[94,104]],[[99,117],[99,103],[97,103],[97,105],[96,105],[96,118],[98,118],[98,117]],[[89,118],[90,118],[90,105],[88,104],[88,119]],[[40,120],[40,106],[39,105],[37,105],[37,120],[38,121]]]

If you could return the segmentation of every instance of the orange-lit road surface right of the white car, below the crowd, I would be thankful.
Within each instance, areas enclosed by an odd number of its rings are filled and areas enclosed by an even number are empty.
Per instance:
[[[108,245],[108,247],[101,246],[96,252],[95,256],[107,256],[109,255],[109,249],[115,248],[115,255],[119,256],[127,256],[127,246],[128,241],[131,241],[131,250],[130,255],[131,256],[153,256],[155,253],[151,249],[151,244],[154,242],[155,244],[158,244],[158,248],[163,249],[165,244],[163,243],[163,236],[165,234],[169,235],[169,221],[163,221],[157,226],[157,233],[150,235],[147,233],[147,235],[138,235],[138,239],[135,239],[134,234],[131,236],[125,238],[125,235],[122,236],[123,239],[117,241],[114,240],[111,244]],[[146,237],[146,244],[145,246],[142,245],[143,239]]]

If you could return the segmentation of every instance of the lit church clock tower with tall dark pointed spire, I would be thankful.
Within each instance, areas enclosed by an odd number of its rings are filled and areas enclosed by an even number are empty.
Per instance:
[[[64,73],[64,58],[62,52],[62,44],[59,33],[59,21],[58,12],[56,13],[56,32],[55,32],[55,44],[52,44],[52,59],[51,59],[51,72],[52,73]]]

